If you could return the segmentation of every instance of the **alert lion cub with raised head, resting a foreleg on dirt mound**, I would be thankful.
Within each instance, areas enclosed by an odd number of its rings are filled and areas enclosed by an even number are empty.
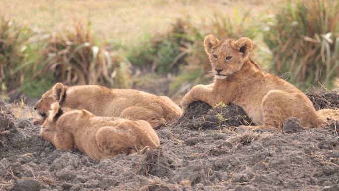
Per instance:
[[[319,127],[326,124],[326,115],[318,113],[312,102],[298,88],[285,80],[262,71],[249,58],[252,42],[246,37],[236,41],[219,41],[208,35],[205,50],[215,75],[213,84],[197,85],[181,101],[186,109],[194,101],[204,101],[212,107],[219,102],[241,106],[257,126],[245,128],[282,129],[286,118],[296,117],[303,127]],[[338,115],[338,111],[332,114]]]

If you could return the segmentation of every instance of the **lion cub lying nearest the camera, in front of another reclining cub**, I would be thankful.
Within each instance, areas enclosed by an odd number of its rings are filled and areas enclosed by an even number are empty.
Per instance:
[[[58,149],[77,148],[94,160],[159,146],[157,134],[144,120],[98,117],[87,110],[62,109],[57,102],[52,104],[40,136]]]

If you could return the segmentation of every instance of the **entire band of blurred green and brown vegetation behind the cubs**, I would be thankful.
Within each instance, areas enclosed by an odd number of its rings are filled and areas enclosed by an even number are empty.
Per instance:
[[[167,76],[166,94],[175,97],[198,83],[211,82],[203,45],[208,34],[220,39],[251,38],[254,60],[277,75],[287,75],[299,88],[317,80],[331,87],[339,77],[338,10],[337,0],[289,0],[273,16],[253,18],[249,12],[232,9],[232,19],[216,12],[196,25],[184,17],[168,32],[145,34],[133,45],[114,37],[99,43],[90,23],[50,34],[1,17],[1,93],[20,91],[39,97],[55,82],[128,88],[136,79],[147,78],[147,85],[153,84],[150,78]]]

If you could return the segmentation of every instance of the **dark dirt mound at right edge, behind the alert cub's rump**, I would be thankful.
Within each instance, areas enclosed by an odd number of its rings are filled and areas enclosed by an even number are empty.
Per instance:
[[[336,91],[319,93],[311,92],[306,95],[312,101],[316,110],[339,108],[339,93]]]

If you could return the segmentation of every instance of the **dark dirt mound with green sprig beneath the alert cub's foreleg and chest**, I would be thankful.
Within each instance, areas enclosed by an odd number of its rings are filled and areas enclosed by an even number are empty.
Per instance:
[[[235,129],[240,125],[250,125],[252,121],[245,111],[236,105],[229,104],[212,109],[204,102],[193,102],[187,111],[172,127],[190,128],[195,130]]]

